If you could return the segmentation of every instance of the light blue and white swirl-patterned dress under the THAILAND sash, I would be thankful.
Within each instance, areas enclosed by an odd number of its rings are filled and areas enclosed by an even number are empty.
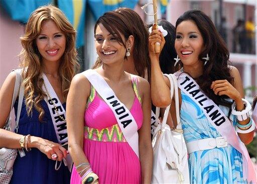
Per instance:
[[[181,96],[180,117],[186,143],[220,137],[199,106],[183,91]],[[219,108],[228,116],[229,108]],[[229,119],[235,126],[236,118],[231,115]],[[227,147],[190,153],[188,161],[191,183],[247,183],[243,180],[242,155],[229,144]]]

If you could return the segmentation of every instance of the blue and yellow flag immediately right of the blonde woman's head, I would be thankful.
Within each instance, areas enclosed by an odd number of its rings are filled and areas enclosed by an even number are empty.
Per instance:
[[[81,0],[58,0],[58,7],[66,15],[70,23],[77,31],[76,46],[84,45],[84,28],[85,28],[85,14],[86,14],[86,1]]]

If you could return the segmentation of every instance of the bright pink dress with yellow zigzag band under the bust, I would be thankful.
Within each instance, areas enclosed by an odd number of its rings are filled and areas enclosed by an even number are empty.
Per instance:
[[[132,77],[132,81],[135,100],[130,112],[140,129],[143,123],[141,98],[137,78]],[[111,109],[92,86],[85,111],[83,150],[99,183],[141,183],[138,156],[126,142]],[[71,184],[77,183],[81,183],[81,177],[73,167]]]

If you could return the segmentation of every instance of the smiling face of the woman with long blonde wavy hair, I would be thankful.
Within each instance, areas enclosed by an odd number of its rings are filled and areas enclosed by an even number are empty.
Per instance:
[[[52,20],[42,24],[36,44],[43,62],[59,62],[66,46],[66,37]]]

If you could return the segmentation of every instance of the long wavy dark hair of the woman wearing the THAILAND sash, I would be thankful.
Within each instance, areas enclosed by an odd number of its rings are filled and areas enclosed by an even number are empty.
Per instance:
[[[203,51],[199,54],[199,60],[205,62],[202,57],[209,54],[209,61],[203,67],[203,74],[198,77],[197,83],[204,93],[214,101],[215,104],[230,107],[231,103],[228,102],[227,96],[215,95],[213,90],[210,89],[211,82],[215,80],[224,80],[233,83],[233,77],[228,68],[229,52],[226,48],[224,40],[217,32],[211,19],[201,11],[192,10],[185,12],[176,22],[176,29],[183,21],[193,21],[199,29],[204,42]]]

